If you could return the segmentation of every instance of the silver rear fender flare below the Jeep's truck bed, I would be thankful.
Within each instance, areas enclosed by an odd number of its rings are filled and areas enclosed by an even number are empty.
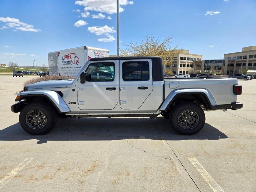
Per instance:
[[[160,107],[160,111],[166,111],[174,99],[181,94],[202,94],[207,98],[208,102],[210,102],[211,106],[217,105],[213,95],[208,89],[176,89],[170,92],[170,94],[167,96],[166,100]]]

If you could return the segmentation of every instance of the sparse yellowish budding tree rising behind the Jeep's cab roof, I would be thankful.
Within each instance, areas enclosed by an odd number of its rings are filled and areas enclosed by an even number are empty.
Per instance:
[[[152,36],[143,37],[144,40],[140,44],[131,42],[123,44],[126,49],[121,49],[121,55],[123,56],[161,56],[164,66],[172,63],[174,55],[178,53],[177,46],[172,48],[170,46],[172,37],[168,36],[161,42],[158,39],[154,39]]]

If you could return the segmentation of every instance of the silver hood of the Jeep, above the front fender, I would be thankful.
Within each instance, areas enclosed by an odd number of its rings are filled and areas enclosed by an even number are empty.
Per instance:
[[[72,84],[74,81],[71,80],[51,80],[51,81],[40,81],[37,83],[27,85],[27,89],[44,89],[44,88],[58,88],[65,87],[65,84]]]

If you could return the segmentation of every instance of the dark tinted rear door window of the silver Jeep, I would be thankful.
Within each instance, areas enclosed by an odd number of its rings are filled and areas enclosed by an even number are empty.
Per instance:
[[[123,62],[124,81],[148,81],[149,63],[148,61],[128,61]]]

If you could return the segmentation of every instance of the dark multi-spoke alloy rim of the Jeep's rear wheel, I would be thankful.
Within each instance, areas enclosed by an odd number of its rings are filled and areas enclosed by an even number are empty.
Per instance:
[[[178,122],[183,129],[193,129],[199,123],[199,116],[194,110],[184,110],[180,113]]]

